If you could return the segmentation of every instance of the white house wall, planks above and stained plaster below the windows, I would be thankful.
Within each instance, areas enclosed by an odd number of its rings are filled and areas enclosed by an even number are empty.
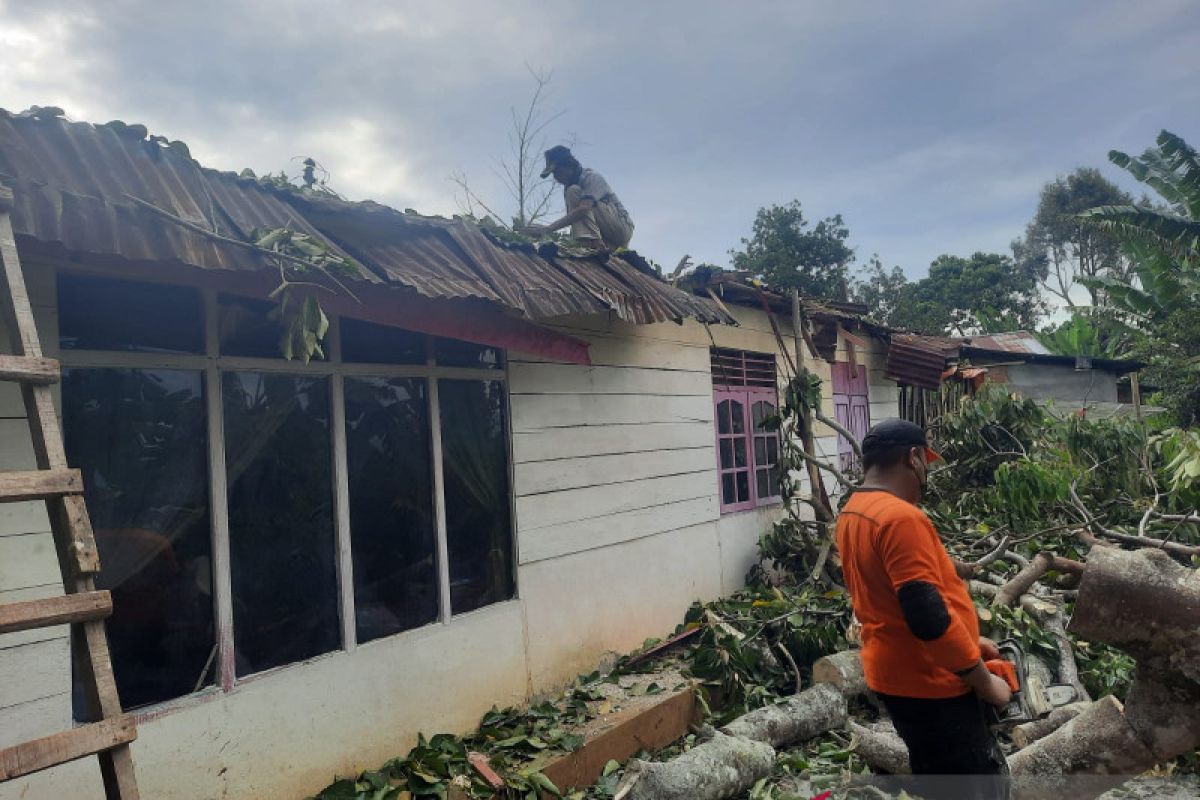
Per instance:
[[[54,342],[49,271],[26,272]],[[740,327],[710,331],[562,320],[590,342],[590,367],[510,354],[518,599],[151,709],[133,746],[143,796],[305,796],[407,752],[418,732],[473,729],[493,704],[559,687],[739,588],[780,511],[718,505],[709,347],[776,350],[761,312],[733,311]],[[828,365],[810,368],[832,415]],[[29,468],[23,410],[2,389],[0,459]],[[40,504],[0,506],[0,601],[60,590],[46,531]],[[0,746],[70,727],[70,672],[66,628],[0,637]],[[0,786],[0,800],[101,796],[95,759]]]

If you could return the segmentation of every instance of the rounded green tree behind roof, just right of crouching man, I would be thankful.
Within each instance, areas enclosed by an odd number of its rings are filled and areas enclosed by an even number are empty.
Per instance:
[[[806,297],[846,300],[854,251],[841,215],[809,227],[799,200],[758,209],[743,249],[730,251],[733,269],[750,272],[778,289],[799,289]]]

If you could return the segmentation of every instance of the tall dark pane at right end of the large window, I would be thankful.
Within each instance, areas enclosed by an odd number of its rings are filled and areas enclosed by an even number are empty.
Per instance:
[[[512,597],[504,384],[439,380],[442,474],[454,613]]]

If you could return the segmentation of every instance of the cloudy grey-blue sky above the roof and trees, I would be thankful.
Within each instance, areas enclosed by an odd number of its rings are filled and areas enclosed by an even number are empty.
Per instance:
[[[911,276],[1007,251],[1039,187],[1160,128],[1200,143],[1200,4],[0,0],[0,107],[143,122],[205,166],[458,210],[494,174],[527,65],[634,247],[727,264],[755,211],[840,212]]]

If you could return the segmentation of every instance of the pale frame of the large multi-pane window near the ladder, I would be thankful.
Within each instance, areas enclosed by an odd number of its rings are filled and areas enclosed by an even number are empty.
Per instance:
[[[150,285],[179,287],[179,283],[152,279],[152,278],[122,278],[91,270],[79,270],[68,266],[53,265],[55,287],[54,308],[58,311],[56,287],[60,276],[82,277],[106,277],[110,279],[126,279]],[[335,565],[337,573],[337,618],[340,622],[340,646],[316,656],[323,658],[335,656],[338,652],[353,652],[360,645],[354,613],[354,569],[350,552],[350,518],[349,518],[349,480],[347,474],[347,439],[346,439],[346,397],[344,379],[348,377],[382,377],[382,378],[418,378],[426,381],[430,414],[428,435],[431,438],[431,469],[433,486],[433,513],[436,535],[436,558],[438,573],[438,615],[434,621],[397,633],[380,637],[364,643],[361,646],[370,646],[379,642],[388,642],[396,637],[419,634],[421,631],[433,626],[449,626],[458,619],[472,615],[487,614],[496,607],[508,603],[520,602],[521,585],[517,570],[517,522],[516,500],[514,497],[514,464],[512,464],[512,404],[509,397],[509,361],[508,354],[499,351],[500,363],[498,367],[442,367],[434,361],[434,339],[432,335],[426,336],[426,360],[420,365],[396,365],[396,363],[370,363],[370,362],[344,362],[341,348],[341,317],[330,317],[330,330],[326,337],[326,356],[324,361],[313,360],[307,365],[299,360],[287,361],[282,356],[278,359],[263,359],[251,356],[228,356],[220,351],[220,293],[214,288],[193,288],[199,295],[204,308],[204,343],[203,354],[176,354],[176,353],[138,353],[124,350],[76,350],[61,349],[58,347],[55,324],[55,339],[53,347],[64,368],[126,368],[126,369],[181,369],[197,371],[202,373],[205,391],[205,413],[209,431],[208,441],[208,476],[209,476],[209,516],[212,558],[212,602],[214,620],[216,625],[217,655],[214,662],[216,675],[212,685],[198,692],[184,694],[161,703],[139,706],[133,714],[148,718],[157,716],[163,711],[174,708],[182,708],[197,702],[198,698],[220,696],[235,691],[238,686],[262,680],[270,675],[287,670],[290,667],[307,662],[281,664],[262,672],[239,675],[235,670],[235,652],[233,636],[233,588],[230,572],[229,551],[229,506],[228,486],[226,475],[224,453],[224,413],[222,408],[222,375],[226,372],[265,372],[276,374],[310,374],[324,375],[329,378],[330,391],[330,426],[332,458],[332,495],[334,495],[334,527],[335,527]],[[385,327],[385,326],[384,326]],[[438,383],[440,379],[456,380],[480,380],[497,381],[505,392],[505,450],[509,491],[509,525],[511,535],[510,565],[512,570],[514,594],[509,600],[502,600],[481,608],[455,614],[450,603],[450,563],[449,542],[446,539],[445,495],[442,463],[442,421],[438,397]],[[311,661],[311,660],[308,660]]]

